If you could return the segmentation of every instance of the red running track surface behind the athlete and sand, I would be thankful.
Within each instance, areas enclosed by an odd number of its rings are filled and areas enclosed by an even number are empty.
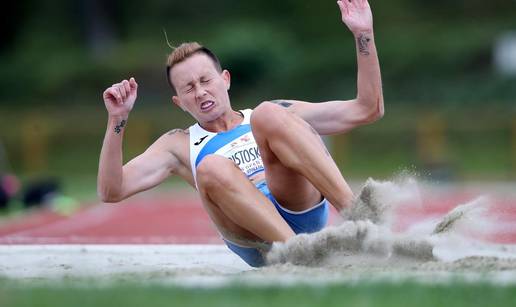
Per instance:
[[[425,195],[419,208],[404,206],[397,212],[395,228],[438,218],[475,195],[444,193]],[[502,227],[484,239],[516,243],[516,200],[494,199],[490,215]],[[332,210],[330,224],[337,223]],[[38,209],[16,218],[0,220],[0,244],[221,244],[219,234],[193,196],[134,197],[121,204],[84,206],[70,216]]]

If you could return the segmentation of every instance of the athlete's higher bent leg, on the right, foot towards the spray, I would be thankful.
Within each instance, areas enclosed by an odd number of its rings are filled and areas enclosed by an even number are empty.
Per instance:
[[[251,127],[267,184],[282,206],[308,209],[320,201],[320,193],[338,209],[351,204],[353,192],[319,134],[303,119],[264,102],[253,111]]]

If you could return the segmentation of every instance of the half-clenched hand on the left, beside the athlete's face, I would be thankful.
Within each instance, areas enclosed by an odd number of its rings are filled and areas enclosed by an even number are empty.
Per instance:
[[[104,91],[102,98],[111,116],[125,116],[133,109],[138,91],[138,84],[134,78],[113,84]]]

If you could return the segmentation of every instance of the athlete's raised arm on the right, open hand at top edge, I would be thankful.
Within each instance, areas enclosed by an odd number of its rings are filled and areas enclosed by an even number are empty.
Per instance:
[[[357,48],[357,97],[308,103],[298,100],[274,100],[287,107],[323,135],[339,134],[374,122],[384,113],[380,64],[373,35],[373,17],[367,0],[337,2],[342,21],[353,33]]]

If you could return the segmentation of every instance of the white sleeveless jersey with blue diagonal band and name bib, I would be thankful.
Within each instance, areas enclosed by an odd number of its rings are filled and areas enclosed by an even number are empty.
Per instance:
[[[251,109],[242,110],[244,120],[229,131],[210,132],[204,130],[198,123],[189,128],[190,165],[195,185],[197,185],[197,166],[204,157],[211,154],[231,159],[247,177],[264,171],[258,145],[251,131],[252,112]]]

